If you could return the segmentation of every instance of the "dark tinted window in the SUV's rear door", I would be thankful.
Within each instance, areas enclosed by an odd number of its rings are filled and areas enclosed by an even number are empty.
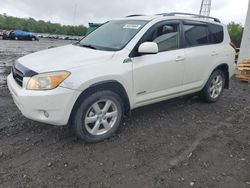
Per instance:
[[[206,25],[184,25],[186,47],[209,44],[209,32]]]

